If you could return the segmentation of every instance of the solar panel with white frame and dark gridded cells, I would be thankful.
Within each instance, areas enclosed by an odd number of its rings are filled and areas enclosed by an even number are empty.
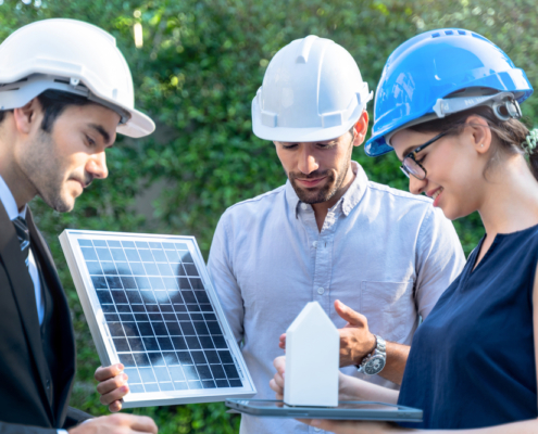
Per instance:
[[[125,366],[125,408],[255,394],[193,237],[65,230],[60,242],[101,363]]]

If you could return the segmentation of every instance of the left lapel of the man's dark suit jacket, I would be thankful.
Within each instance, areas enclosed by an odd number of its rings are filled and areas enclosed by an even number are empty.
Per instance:
[[[52,410],[46,394],[47,360],[42,349],[34,282],[21,252],[15,228],[1,203],[0,228],[2,228],[0,230],[0,260],[2,260],[10,279],[11,291],[18,307],[18,315],[25,330],[26,340],[30,353],[34,355],[36,369],[41,380],[39,387],[41,400],[52,420]]]

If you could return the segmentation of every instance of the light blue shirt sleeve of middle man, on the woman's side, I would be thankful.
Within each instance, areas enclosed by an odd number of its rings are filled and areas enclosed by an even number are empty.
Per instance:
[[[426,318],[465,265],[454,226],[440,209],[429,209],[426,214],[416,254],[415,303],[418,314]]]

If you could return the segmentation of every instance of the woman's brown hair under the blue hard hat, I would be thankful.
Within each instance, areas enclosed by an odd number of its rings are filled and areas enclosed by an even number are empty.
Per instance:
[[[491,135],[496,144],[493,146],[491,158],[486,166],[485,176],[489,168],[503,159],[503,155],[526,154],[526,150],[522,144],[526,141],[527,135],[529,133],[528,128],[517,119],[499,119],[493,114],[493,111],[488,106],[470,108],[447,116],[442,119],[435,119],[424,124],[414,125],[410,127],[410,129],[417,132],[448,131],[449,136],[456,136],[463,130],[465,120],[472,115],[478,115],[486,119],[489,128],[491,129]],[[528,162],[530,171],[538,180],[538,149],[529,152]]]

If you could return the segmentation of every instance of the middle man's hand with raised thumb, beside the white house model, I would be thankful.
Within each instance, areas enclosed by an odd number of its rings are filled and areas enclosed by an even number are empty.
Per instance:
[[[340,367],[360,365],[376,347],[375,335],[368,329],[368,320],[339,299],[335,301],[336,312],[348,323],[339,329]]]

